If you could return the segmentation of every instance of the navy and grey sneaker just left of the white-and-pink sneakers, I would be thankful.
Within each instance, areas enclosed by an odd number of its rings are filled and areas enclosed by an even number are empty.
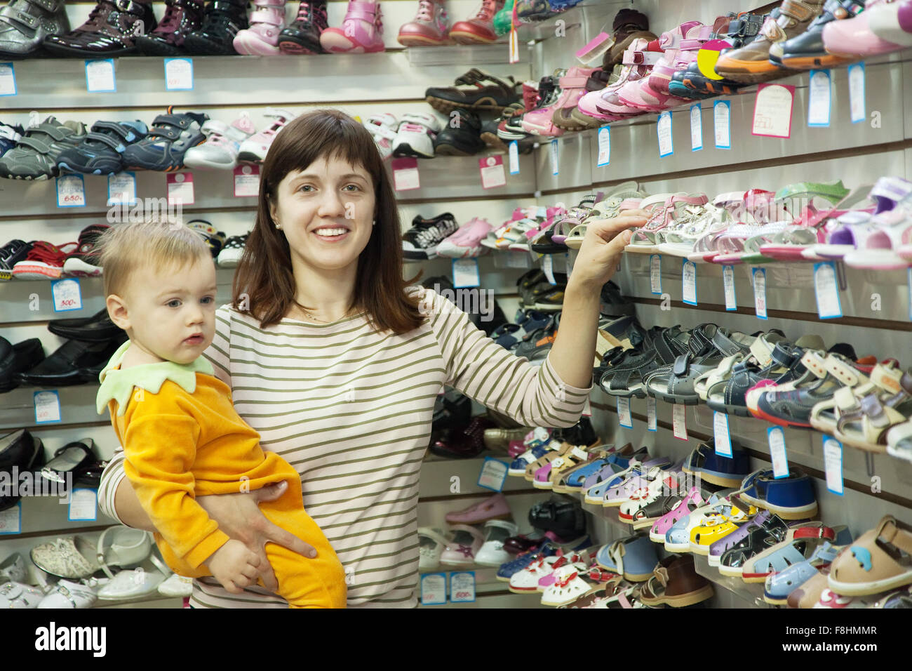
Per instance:
[[[205,141],[202,124],[209,115],[196,112],[174,114],[169,107],[152,121],[149,134],[123,151],[124,169],[172,171],[183,167],[183,156],[191,147]]]

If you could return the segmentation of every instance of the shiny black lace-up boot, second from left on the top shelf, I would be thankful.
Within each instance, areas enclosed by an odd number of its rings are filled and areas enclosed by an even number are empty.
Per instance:
[[[157,26],[151,0],[98,0],[86,23],[65,35],[45,38],[47,51],[57,56],[100,58],[127,56],[137,51],[135,33]]]

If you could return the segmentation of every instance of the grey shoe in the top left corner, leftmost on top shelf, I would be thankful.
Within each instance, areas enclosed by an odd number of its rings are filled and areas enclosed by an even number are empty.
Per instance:
[[[0,58],[25,58],[45,37],[69,32],[64,0],[11,0],[0,9]]]

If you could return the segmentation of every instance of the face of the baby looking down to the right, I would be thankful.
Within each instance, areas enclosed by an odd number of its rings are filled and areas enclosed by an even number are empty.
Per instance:
[[[124,297],[131,340],[162,361],[190,363],[215,333],[215,265],[200,257],[183,267],[138,268]]]

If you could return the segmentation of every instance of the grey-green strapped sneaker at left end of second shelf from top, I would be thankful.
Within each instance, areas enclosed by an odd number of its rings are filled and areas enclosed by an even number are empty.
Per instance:
[[[57,157],[78,147],[87,137],[78,121],[61,123],[54,117],[31,126],[15,148],[0,157],[0,177],[17,180],[46,180],[60,174]]]

